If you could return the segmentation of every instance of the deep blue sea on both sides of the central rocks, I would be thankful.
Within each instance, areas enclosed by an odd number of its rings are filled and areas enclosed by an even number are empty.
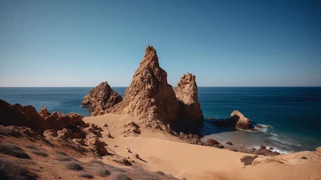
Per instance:
[[[82,100],[93,87],[0,87],[0,99],[10,104],[32,105],[39,112],[76,112],[90,116]],[[127,87],[112,87],[124,97]],[[203,141],[259,148],[279,153],[314,151],[321,146],[321,87],[198,87],[204,124],[198,134]],[[260,125],[258,131],[217,127],[213,121],[229,118],[238,110]]]

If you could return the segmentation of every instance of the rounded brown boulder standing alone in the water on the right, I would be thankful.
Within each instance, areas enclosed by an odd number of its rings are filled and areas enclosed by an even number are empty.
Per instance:
[[[231,113],[231,117],[229,119],[226,119],[226,122],[236,129],[251,129],[252,124],[250,122],[250,119],[245,117],[242,113],[240,113],[237,110],[234,110]]]

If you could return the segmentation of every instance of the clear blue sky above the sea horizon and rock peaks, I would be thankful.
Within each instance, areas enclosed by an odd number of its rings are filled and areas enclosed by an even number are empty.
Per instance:
[[[0,86],[128,86],[147,45],[168,83],[321,86],[321,1],[3,1]]]

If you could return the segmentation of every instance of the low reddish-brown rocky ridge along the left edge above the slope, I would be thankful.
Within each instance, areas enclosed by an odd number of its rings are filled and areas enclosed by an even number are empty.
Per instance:
[[[10,105],[0,99],[0,124],[20,129],[19,131],[28,134],[43,134],[46,137],[61,138],[66,141],[70,139],[72,142],[88,147],[97,155],[107,154],[105,144],[99,140],[103,129],[94,124],[85,124],[83,116],[76,113],[53,112],[51,114],[46,107],[37,113],[32,106]]]

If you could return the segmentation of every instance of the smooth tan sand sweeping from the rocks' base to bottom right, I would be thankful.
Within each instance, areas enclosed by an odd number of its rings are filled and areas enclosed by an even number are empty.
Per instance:
[[[84,121],[102,127],[114,137],[103,135],[102,140],[108,144],[108,152],[135,159],[146,170],[163,171],[177,178],[321,179],[321,154],[317,152],[259,156],[253,165],[244,166],[240,158],[253,154],[187,144],[166,132],[144,127],[130,115],[105,114],[85,117]],[[141,134],[123,136],[122,124],[129,121],[140,126]],[[108,127],[103,127],[104,123]],[[134,154],[141,159],[135,158]],[[103,161],[112,163],[108,156],[104,156]]]

